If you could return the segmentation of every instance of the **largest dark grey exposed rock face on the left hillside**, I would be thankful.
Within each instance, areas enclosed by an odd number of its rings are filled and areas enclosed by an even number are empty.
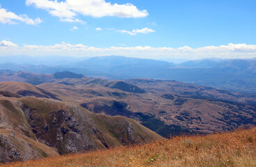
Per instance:
[[[36,109],[28,106],[22,108],[24,113],[27,113],[27,120],[36,138],[46,145],[57,148],[59,154],[96,149],[87,134],[81,133],[88,129],[78,123],[73,113],[67,109],[52,111],[49,113],[50,117],[44,119],[38,116]]]

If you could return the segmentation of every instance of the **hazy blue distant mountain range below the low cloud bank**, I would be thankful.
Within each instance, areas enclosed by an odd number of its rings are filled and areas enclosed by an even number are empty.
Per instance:
[[[256,91],[255,59],[209,58],[174,64],[124,56],[101,56],[86,60],[75,58],[73,61],[68,57],[63,58],[63,61],[59,58],[59,62],[56,63],[57,57],[54,57],[52,63],[44,64],[45,61],[42,61],[42,65],[30,65],[33,59],[28,59],[27,63],[24,60],[20,61],[19,64],[6,63],[8,60],[10,58],[0,64],[0,70],[28,71],[38,74],[69,71],[102,79],[172,79],[227,90]]]

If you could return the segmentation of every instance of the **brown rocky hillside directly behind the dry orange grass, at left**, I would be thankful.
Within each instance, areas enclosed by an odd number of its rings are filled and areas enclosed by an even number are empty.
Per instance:
[[[135,120],[92,113],[72,103],[1,97],[0,162],[51,157],[161,137]]]

